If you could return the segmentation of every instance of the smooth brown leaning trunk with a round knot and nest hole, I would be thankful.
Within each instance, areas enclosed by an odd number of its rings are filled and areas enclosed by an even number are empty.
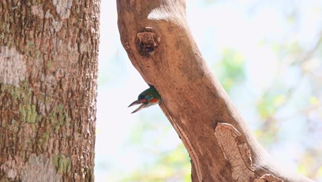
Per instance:
[[[183,0],[118,0],[122,45],[162,97],[191,157],[192,181],[312,181],[273,163],[206,66]],[[217,17],[221,18],[221,17]]]

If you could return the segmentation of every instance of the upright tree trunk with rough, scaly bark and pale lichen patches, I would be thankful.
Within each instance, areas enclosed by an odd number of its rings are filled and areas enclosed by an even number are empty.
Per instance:
[[[1,0],[0,181],[94,181],[98,0]]]

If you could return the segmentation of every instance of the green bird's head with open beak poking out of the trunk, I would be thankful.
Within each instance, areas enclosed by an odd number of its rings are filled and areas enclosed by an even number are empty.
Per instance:
[[[156,105],[161,103],[161,97],[157,90],[155,90],[153,85],[149,85],[150,88],[144,90],[142,93],[139,94],[138,100],[133,101],[127,108],[131,107],[132,105],[141,104],[136,110],[131,112],[131,114],[142,110],[143,108],[149,108],[151,105]]]

